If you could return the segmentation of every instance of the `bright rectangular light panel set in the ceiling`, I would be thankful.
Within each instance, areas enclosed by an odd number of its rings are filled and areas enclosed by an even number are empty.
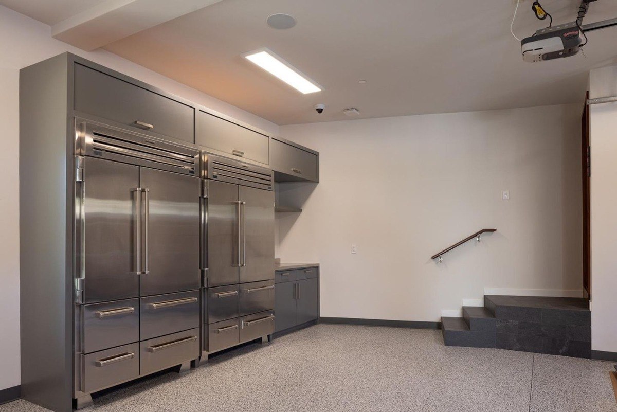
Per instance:
[[[321,86],[309,80],[302,72],[281,59],[281,57],[276,56],[276,54],[269,49],[259,49],[257,51],[244,53],[242,56],[263,68],[263,70],[271,75],[280,78],[280,80],[283,80],[301,93],[309,94],[321,91]]]

